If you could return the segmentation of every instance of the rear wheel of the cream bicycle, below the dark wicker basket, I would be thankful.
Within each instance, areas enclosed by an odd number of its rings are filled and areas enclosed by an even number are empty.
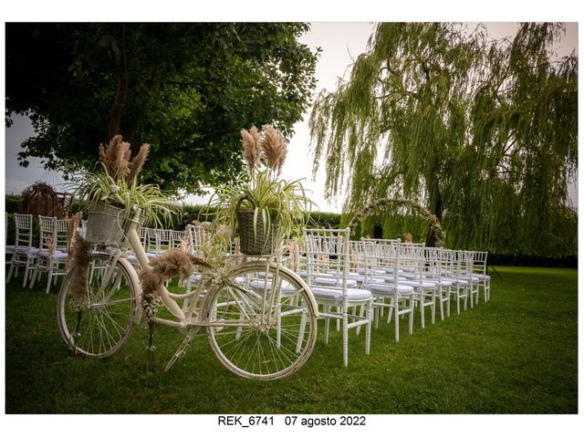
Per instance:
[[[250,262],[232,271],[205,304],[217,358],[248,379],[281,379],[298,370],[317,337],[307,288],[276,265]]]

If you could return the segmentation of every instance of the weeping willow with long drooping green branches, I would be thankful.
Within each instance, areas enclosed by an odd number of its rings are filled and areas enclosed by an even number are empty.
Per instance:
[[[454,247],[573,254],[578,63],[553,53],[563,31],[526,24],[490,40],[480,27],[377,26],[349,80],[312,110],[326,195],[347,188],[347,213],[381,198],[426,205]]]

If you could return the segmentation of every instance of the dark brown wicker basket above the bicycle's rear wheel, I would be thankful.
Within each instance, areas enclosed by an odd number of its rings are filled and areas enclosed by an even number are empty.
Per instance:
[[[240,251],[246,255],[273,254],[279,244],[277,224],[270,225],[269,235],[266,233],[264,222],[259,217],[257,227],[254,229],[254,211],[240,210],[237,212],[237,224],[239,224]]]

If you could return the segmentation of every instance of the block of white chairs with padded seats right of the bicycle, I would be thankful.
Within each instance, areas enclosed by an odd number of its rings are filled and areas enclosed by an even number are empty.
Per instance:
[[[457,313],[467,304],[478,304],[479,289],[485,301],[490,297],[490,277],[486,272],[486,252],[458,251],[402,243],[399,239],[349,240],[350,230],[305,229],[305,253],[297,257],[304,266],[295,266],[322,307],[325,342],[329,320],[342,328],[343,363],[349,361],[349,329],[365,327],[365,354],[370,353],[370,329],[376,327],[387,310],[388,323],[395,322],[395,340],[400,337],[400,319],[408,316],[412,335],[415,308],[420,309],[421,327],[430,308],[435,322],[450,316],[451,300]],[[333,311],[334,309],[334,311]],[[352,310],[352,311],[351,311]],[[341,327],[342,324],[342,327]]]

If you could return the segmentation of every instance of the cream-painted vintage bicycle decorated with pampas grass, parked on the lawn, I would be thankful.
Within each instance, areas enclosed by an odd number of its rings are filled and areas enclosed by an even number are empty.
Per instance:
[[[141,283],[126,252],[133,251],[141,269],[149,260],[137,231],[141,210],[133,212],[117,248],[106,251],[105,246],[94,245],[81,300],[69,290],[78,276],[75,267],[63,281],[58,326],[69,349],[78,355],[111,356],[141,322]],[[172,318],[153,317],[151,322],[177,328],[185,337],[167,370],[183,358],[201,328],[221,363],[245,378],[284,378],[308,360],[317,337],[318,308],[296,273],[264,257],[235,266],[213,282],[204,281],[204,276],[188,293],[162,287],[162,305]],[[183,301],[183,307],[177,301]]]

